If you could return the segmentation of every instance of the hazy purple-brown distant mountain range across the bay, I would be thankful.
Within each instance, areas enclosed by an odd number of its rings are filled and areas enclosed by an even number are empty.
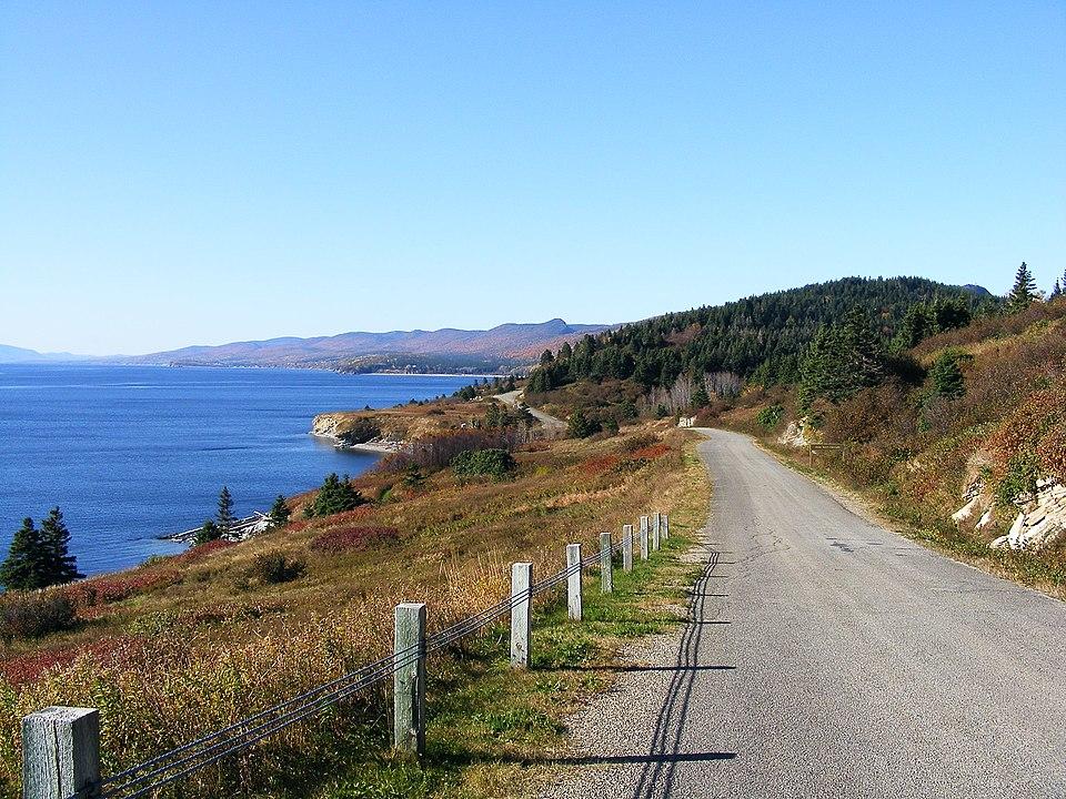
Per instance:
[[[392,331],[234,342],[218,346],[103,358],[108,363],[167,366],[289,366],[341,372],[480,372],[514,368],[586,333],[611,325],[502,324],[492,330]]]

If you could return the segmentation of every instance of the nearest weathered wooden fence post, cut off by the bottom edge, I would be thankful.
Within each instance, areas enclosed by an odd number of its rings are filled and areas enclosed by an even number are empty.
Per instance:
[[[90,796],[100,782],[100,714],[47,707],[22,719],[23,799]]]

